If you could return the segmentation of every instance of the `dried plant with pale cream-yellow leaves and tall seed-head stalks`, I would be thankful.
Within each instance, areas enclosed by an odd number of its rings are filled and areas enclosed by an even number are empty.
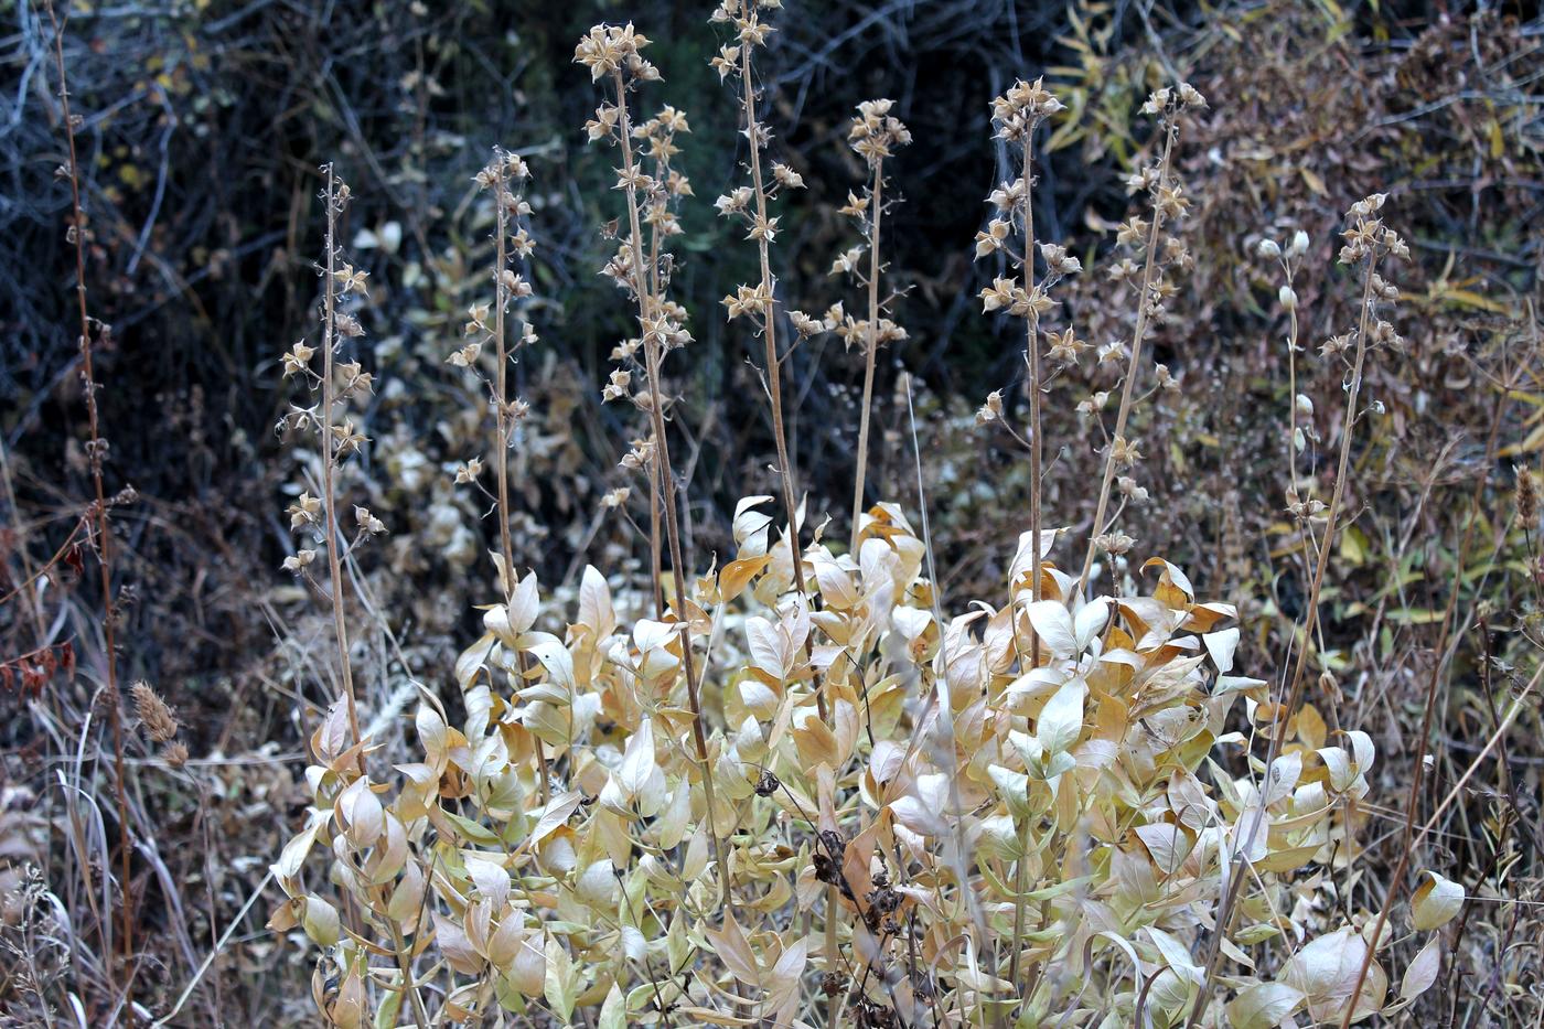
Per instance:
[[[740,80],[750,141],[750,184],[718,209],[744,221],[761,267],[726,306],[763,338],[781,433],[769,253],[777,219],[767,204],[798,179],[783,165],[772,185],[763,179],[769,133],[750,65],[770,32],[761,9],[775,6],[727,3],[713,20],[735,28],[715,66]],[[417,1024],[508,1014],[607,1027],[795,1026],[823,1014],[828,1026],[860,1027],[1053,1017],[1175,1026],[1203,1020],[1218,984],[1231,993],[1227,1024],[1244,1027],[1297,1012],[1323,1021],[1408,1007],[1436,975],[1436,939],[1390,1001],[1388,973],[1373,958],[1383,938],[1320,904],[1325,876],[1360,853],[1371,737],[1345,729],[1331,740],[1319,709],[1303,703],[1365,358],[1399,343],[1376,315],[1394,295],[1377,263],[1403,250],[1376,218],[1382,198],[1359,204],[1346,232],[1343,261],[1363,281],[1360,320],[1323,354],[1346,362],[1351,416],[1329,504],[1302,508],[1305,528],[1322,522],[1319,562],[1305,646],[1283,691],[1241,674],[1237,609],[1198,598],[1175,564],[1152,558],[1135,575],[1112,573],[1109,592],[1089,593],[1093,550],[1115,569],[1135,544],[1124,535],[1115,542],[1124,504],[1115,516],[1106,507],[1116,473],[1138,460],[1124,433],[1144,326],[1175,289],[1166,266],[1186,258],[1166,232],[1184,210],[1172,151],[1178,117],[1203,102],[1183,85],[1149,102],[1163,156],[1132,185],[1152,199],[1152,221],[1132,218],[1121,230],[1144,264],[1122,258],[1115,275],[1139,280],[1139,309],[1129,354],[1104,354],[1126,357],[1122,402],[1081,572],[1051,559],[1067,531],[1041,524],[1031,487],[1030,530],[1008,561],[1005,595],[954,598],[959,613],[950,615],[926,521],[917,533],[892,504],[862,510],[862,450],[851,545],[834,550],[821,527],[800,539],[780,440],[787,530],[775,533],[777,519],[761,510],[772,498],[746,498],[733,516],[733,559],[696,573],[681,542],[661,369],[690,343],[686,311],[667,298],[675,212],[690,196],[670,159],[687,124],[675,108],[633,124],[631,93],[659,77],[642,57],[647,43],[631,26],[598,26],[576,60],[608,85],[588,134],[621,155],[625,227],[608,230],[619,249],[605,273],[636,304],[639,335],[616,348],[604,392],[633,400],[648,423],[624,465],[650,476],[653,616],[619,610],[594,567],[584,570],[576,609],[543,599],[534,573],[516,578],[502,533],[503,603],[486,610],[486,632],[455,663],[460,703],[423,695],[415,760],[367,774],[349,711],[334,708],[310,740],[306,825],[273,865],[290,899],[270,922],[304,929],[321,947],[315,993],[326,1017],[344,1026],[394,1023],[409,1010]],[[903,338],[879,290],[883,162],[909,139],[892,107],[862,104],[849,134],[872,179],[843,213],[863,224],[869,260],[863,273],[862,252],[848,253],[837,270],[866,287],[868,318],[840,306],[820,320],[789,311],[801,335],[835,331],[865,348],[865,425],[874,354]],[[1081,270],[1062,247],[1034,238],[1033,141],[1058,110],[1041,83],[1019,82],[994,102],[997,134],[1019,148],[1022,176],[993,195],[997,215],[977,236],[979,256],[1001,252],[1017,272],[996,278],[982,300],[988,312],[1025,320],[1028,437],[1007,425],[1001,394],[980,419],[1027,447],[1033,482],[1050,385],[1042,358],[1055,375],[1085,349],[1070,328],[1044,329],[1050,290]],[[523,165],[496,156],[482,178],[499,210],[528,215],[517,193],[500,192],[523,179]],[[500,239],[508,230],[500,218]],[[505,287],[502,243],[496,255],[502,312],[523,295],[523,280],[511,273]],[[1289,281],[1302,256],[1294,241]],[[1282,298],[1291,311],[1289,287]],[[477,348],[494,338],[502,368],[502,317],[489,326],[474,309],[469,331],[477,340],[452,360],[477,366]],[[1163,371],[1158,379],[1170,382]],[[489,391],[502,411],[497,375]],[[1308,431],[1297,419],[1309,414],[1294,403],[1291,439]],[[503,414],[496,439],[508,447]],[[1122,498],[1138,490],[1121,476]],[[503,487],[494,501],[506,522]],[[454,723],[452,709],[463,712]],[[337,895],[307,873],[317,848],[330,853]],[[1428,876],[1417,932],[1453,916],[1451,885]],[[1223,958],[1235,966],[1226,976]]]

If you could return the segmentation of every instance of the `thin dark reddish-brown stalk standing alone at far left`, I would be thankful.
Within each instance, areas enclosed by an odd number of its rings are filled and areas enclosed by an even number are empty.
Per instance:
[[[43,0],[48,9],[48,20],[54,29],[54,62],[59,70],[59,105],[65,121],[65,139],[69,145],[69,204],[74,219],[76,244],[76,304],[80,315],[80,379],[85,383],[86,396],[86,431],[91,434],[86,453],[91,462],[91,487],[96,499],[93,502],[91,521],[96,522],[94,535],[97,541],[97,562],[102,570],[102,641],[107,647],[107,694],[110,697],[108,711],[113,722],[113,776],[116,780],[114,799],[117,802],[117,851],[119,851],[119,922],[120,922],[120,953],[124,959],[124,1017],[130,1026],[134,1023],[134,1004],[128,998],[133,981],[134,963],[134,915],[130,896],[130,858],[133,856],[133,837],[128,822],[127,773],[124,768],[124,714],[119,708],[117,695],[117,632],[116,612],[113,606],[113,531],[108,525],[107,487],[102,481],[102,460],[105,440],[97,420],[97,382],[91,365],[91,315],[86,312],[86,218],[80,207],[80,165],[76,155],[76,122],[69,110],[69,80],[65,74],[65,32],[54,12],[52,0]],[[113,980],[113,973],[108,972]]]

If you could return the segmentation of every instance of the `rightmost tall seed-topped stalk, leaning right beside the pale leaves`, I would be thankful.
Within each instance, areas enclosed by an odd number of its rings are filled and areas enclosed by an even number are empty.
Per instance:
[[[1291,715],[1297,711],[1297,705],[1303,697],[1303,681],[1308,671],[1308,650],[1311,649],[1314,629],[1319,626],[1319,595],[1325,586],[1325,570],[1329,567],[1329,552],[1334,548],[1337,522],[1340,519],[1340,504],[1345,498],[1346,474],[1351,470],[1351,437],[1357,420],[1357,400],[1362,392],[1362,369],[1366,363],[1366,334],[1368,320],[1371,317],[1373,304],[1373,272],[1376,270],[1377,258],[1368,255],[1366,267],[1363,270],[1362,280],[1362,315],[1357,324],[1356,337],[1356,363],[1351,371],[1351,389],[1346,394],[1346,423],[1345,431],[1340,434],[1340,460],[1336,470],[1336,488],[1329,498],[1329,508],[1326,511],[1325,521],[1325,536],[1319,547],[1319,562],[1314,569],[1314,581],[1308,593],[1308,612],[1303,618],[1303,640],[1297,649],[1297,661],[1292,666],[1292,680],[1288,691],[1286,705],[1278,708],[1274,714],[1275,717],[1275,732],[1271,734],[1271,746],[1266,751],[1265,759],[1265,774],[1271,774],[1271,766],[1275,759],[1280,757],[1282,748],[1286,746],[1286,731]],[[1294,397],[1295,403],[1295,397]],[[1424,739],[1424,737],[1422,737]],[[1223,938],[1232,932],[1232,919],[1237,910],[1238,891],[1243,885],[1243,864],[1254,847],[1255,834],[1260,831],[1260,825],[1265,820],[1265,807],[1255,810],[1254,817],[1249,824],[1249,831],[1244,834],[1243,842],[1238,847],[1237,856],[1234,858],[1234,871],[1227,881],[1227,893],[1223,895],[1221,907],[1217,912],[1217,929],[1212,932],[1212,939],[1209,944],[1206,956],[1206,981],[1201,984],[1201,992],[1195,998],[1195,1007],[1190,1009],[1190,1018],[1186,1021],[1186,1029],[1194,1029],[1200,1024],[1201,1017],[1206,1014],[1206,1007],[1212,997],[1212,980],[1217,976],[1218,959],[1223,953]]]

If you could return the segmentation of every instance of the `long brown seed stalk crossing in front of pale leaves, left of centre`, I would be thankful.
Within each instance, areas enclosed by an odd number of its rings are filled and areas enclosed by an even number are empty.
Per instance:
[[[627,221],[631,230],[633,247],[633,286],[638,292],[638,312],[642,318],[644,331],[644,369],[648,375],[648,414],[655,430],[655,460],[659,464],[661,494],[665,502],[665,541],[670,547],[672,584],[675,587],[676,616],[681,618],[681,660],[686,666],[687,703],[692,708],[692,739],[696,743],[696,757],[703,765],[703,796],[707,802],[707,833],[713,839],[713,854],[718,861],[718,881],[726,905],[732,902],[729,891],[729,859],[724,841],[718,834],[713,822],[713,768],[707,760],[707,734],[703,729],[703,705],[699,698],[699,683],[696,678],[696,660],[692,655],[692,621],[686,607],[686,576],[687,565],[681,558],[681,531],[676,521],[675,473],[670,468],[670,440],[665,437],[664,391],[659,386],[659,340],[648,331],[648,321],[658,304],[648,289],[644,275],[642,229],[638,218],[638,187],[635,185],[636,165],[633,164],[631,122],[627,113],[627,85],[622,82],[621,70],[611,74],[616,87],[618,136],[622,141],[622,168],[627,175]]]

